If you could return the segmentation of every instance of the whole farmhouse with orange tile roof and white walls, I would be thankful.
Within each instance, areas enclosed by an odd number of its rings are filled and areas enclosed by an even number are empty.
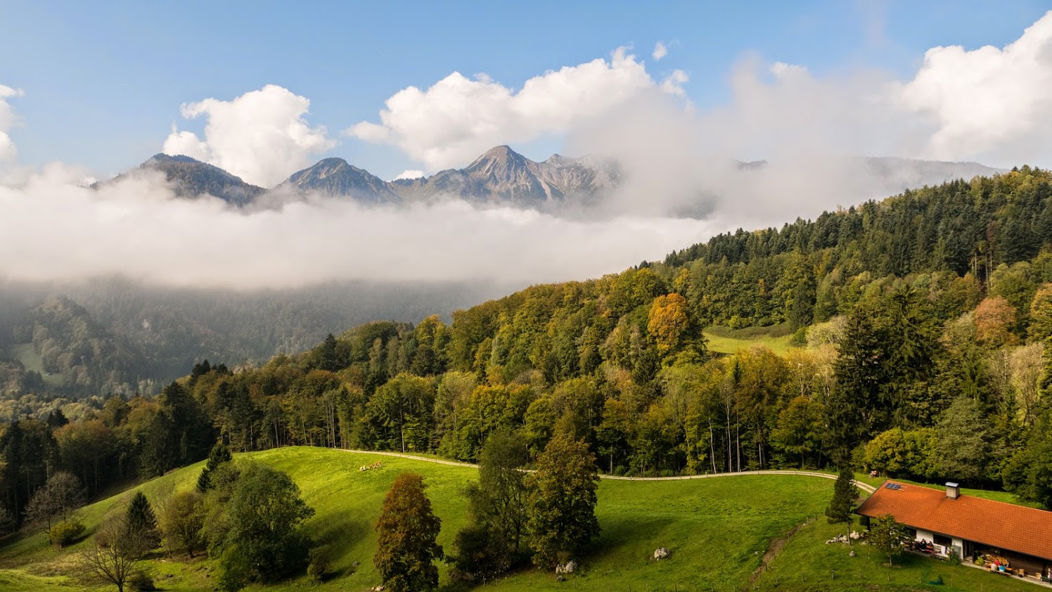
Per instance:
[[[1052,578],[1052,512],[962,495],[955,483],[938,489],[886,481],[855,510],[863,520],[887,514],[910,538],[938,556],[1005,562],[1008,573]]]

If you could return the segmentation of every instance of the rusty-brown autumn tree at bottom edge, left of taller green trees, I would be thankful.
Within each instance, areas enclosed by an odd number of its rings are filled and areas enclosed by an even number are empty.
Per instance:
[[[384,497],[372,563],[390,592],[419,592],[439,586],[434,560],[443,557],[442,546],[436,543],[442,520],[431,512],[424,487],[422,476],[402,473]]]

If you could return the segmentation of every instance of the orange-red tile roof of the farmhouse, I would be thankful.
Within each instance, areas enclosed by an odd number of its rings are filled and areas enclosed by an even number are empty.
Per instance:
[[[916,529],[980,543],[996,549],[1052,559],[1052,512],[1014,504],[960,495],[945,490],[899,484],[901,489],[878,487],[857,513],[895,520]]]

